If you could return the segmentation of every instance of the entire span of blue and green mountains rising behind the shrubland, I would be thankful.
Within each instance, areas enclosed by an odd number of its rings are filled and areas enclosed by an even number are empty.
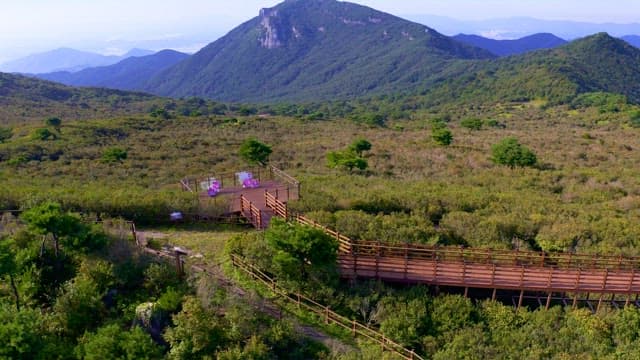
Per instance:
[[[546,48],[552,49],[540,50]],[[450,38],[361,5],[287,0],[263,9],[192,56],[163,51],[76,73],[38,76],[76,86],[229,102],[402,94],[434,102],[562,103],[594,91],[640,102],[635,85],[639,72],[640,50],[604,33],[569,44],[552,34],[513,41]]]

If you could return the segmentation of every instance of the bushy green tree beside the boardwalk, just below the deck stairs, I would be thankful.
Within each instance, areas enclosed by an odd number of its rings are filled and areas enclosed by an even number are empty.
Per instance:
[[[272,219],[265,240],[274,251],[272,264],[279,279],[297,287],[335,280],[338,242],[323,231]]]

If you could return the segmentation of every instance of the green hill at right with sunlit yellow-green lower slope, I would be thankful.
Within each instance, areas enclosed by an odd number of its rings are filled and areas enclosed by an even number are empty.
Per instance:
[[[638,103],[639,82],[640,49],[601,33],[556,49],[476,62],[428,97],[475,103],[543,99],[553,104],[582,93],[610,92]]]

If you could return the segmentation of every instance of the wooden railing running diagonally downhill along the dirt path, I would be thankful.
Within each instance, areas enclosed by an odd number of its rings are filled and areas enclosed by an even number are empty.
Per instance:
[[[300,308],[305,308],[306,310],[321,316],[322,318],[324,318],[325,323],[336,324],[349,330],[354,336],[361,336],[372,340],[380,344],[383,351],[393,352],[403,359],[423,360],[423,358],[416,355],[413,350],[409,350],[403,347],[402,345],[394,342],[377,330],[372,329],[369,326],[360,324],[356,320],[350,320],[334,311],[331,311],[328,306],[322,305],[300,293],[291,293],[287,291],[286,289],[278,285],[278,283],[272,277],[265,274],[257,267],[245,262],[238,255],[232,254],[231,262],[234,267],[242,270],[243,272],[251,276],[254,280],[260,281],[281,298],[297,305]]]

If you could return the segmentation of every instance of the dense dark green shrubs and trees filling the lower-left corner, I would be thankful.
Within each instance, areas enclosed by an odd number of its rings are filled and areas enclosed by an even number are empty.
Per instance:
[[[33,207],[22,220],[4,218],[0,227],[0,358],[303,359],[326,353],[287,321],[256,312],[206,277],[181,279],[171,263],[57,204]]]

